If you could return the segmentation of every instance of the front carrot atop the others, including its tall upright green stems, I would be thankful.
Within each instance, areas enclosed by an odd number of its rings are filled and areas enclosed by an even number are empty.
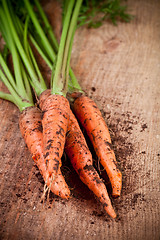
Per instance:
[[[35,25],[38,21],[34,11],[28,0],[25,0],[25,6]],[[67,12],[63,24],[61,40],[56,58],[56,64],[52,67],[51,77],[51,95],[46,98],[43,89],[37,89],[39,81],[31,77],[31,85],[33,86],[37,96],[39,97],[39,106],[42,110],[42,126],[43,126],[43,148],[44,159],[46,162],[48,177],[52,176],[54,181],[59,167],[61,166],[61,157],[64,151],[65,136],[69,121],[70,105],[66,98],[69,79],[69,65],[71,56],[72,35],[75,31],[77,17],[82,0],[71,0],[67,3]],[[43,32],[38,24],[38,32]],[[47,41],[47,37],[43,35],[42,42]],[[49,56],[54,55],[51,47],[47,44],[46,51]],[[52,59],[52,57],[51,57]],[[54,59],[55,60],[55,59]],[[39,94],[39,92],[41,93]]]

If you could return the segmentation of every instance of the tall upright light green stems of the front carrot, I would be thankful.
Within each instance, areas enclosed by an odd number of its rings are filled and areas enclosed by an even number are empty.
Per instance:
[[[60,92],[63,89],[63,94],[66,95],[69,77],[70,56],[73,43],[73,35],[76,27],[77,17],[82,0],[68,1],[67,12],[64,19],[63,31],[59,45],[55,75],[52,83],[52,93]],[[75,7],[74,7],[75,4]],[[72,9],[74,7],[73,15]],[[72,40],[72,41],[71,41]],[[60,75],[61,74],[61,75]],[[65,85],[64,85],[65,82]],[[57,88],[58,86],[58,88]]]

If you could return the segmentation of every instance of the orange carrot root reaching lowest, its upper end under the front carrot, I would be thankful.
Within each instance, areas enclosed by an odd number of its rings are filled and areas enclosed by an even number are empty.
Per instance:
[[[70,111],[65,152],[81,181],[98,197],[105,211],[112,218],[115,218],[116,213],[112,207],[106,187],[93,167],[91,152],[88,149],[86,140],[72,111]]]

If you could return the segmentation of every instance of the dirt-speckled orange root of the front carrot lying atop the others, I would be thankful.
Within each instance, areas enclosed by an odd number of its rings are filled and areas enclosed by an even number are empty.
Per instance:
[[[61,166],[65,136],[69,121],[69,102],[62,95],[48,95],[48,90],[40,95],[42,110],[44,159],[53,180]]]

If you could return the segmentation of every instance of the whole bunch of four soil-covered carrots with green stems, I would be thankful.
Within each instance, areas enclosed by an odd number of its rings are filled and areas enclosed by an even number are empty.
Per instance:
[[[20,110],[20,131],[44,179],[44,195],[52,191],[61,198],[70,197],[61,172],[61,158],[65,152],[81,181],[115,218],[106,186],[93,166],[92,154],[79,123],[107,172],[112,196],[119,197],[122,174],[117,167],[109,130],[96,103],[85,95],[70,67],[82,0],[65,1],[59,44],[38,0],[34,3],[48,37],[30,1],[23,0],[23,3],[27,14],[22,21],[14,12],[12,1],[0,2],[0,30],[13,65],[11,70],[4,54],[0,54],[0,79],[10,92],[0,92],[0,97],[13,102]],[[33,46],[52,71],[49,89],[39,70]],[[36,103],[33,92],[38,99]]]

